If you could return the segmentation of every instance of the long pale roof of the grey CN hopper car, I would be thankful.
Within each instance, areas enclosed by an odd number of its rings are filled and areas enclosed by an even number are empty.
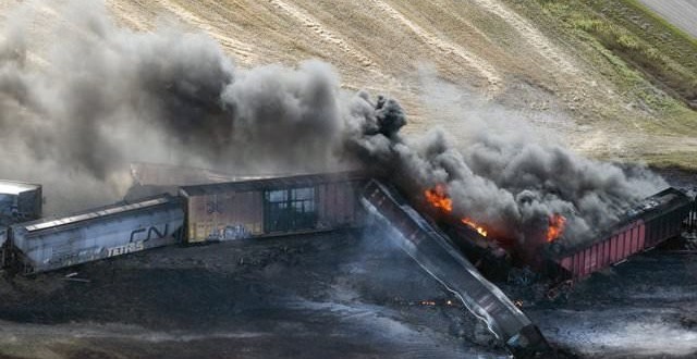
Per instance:
[[[157,197],[151,197],[147,199],[142,199],[133,203],[119,202],[115,205],[94,208],[87,211],[73,213],[71,215],[58,218],[58,219],[41,219],[37,221],[24,222],[24,223],[16,224],[13,227],[20,226],[26,230],[27,232],[37,232],[37,231],[70,225],[74,223],[85,222],[89,220],[95,220],[99,218],[118,215],[132,210],[150,209],[157,206],[170,203],[174,200],[175,200],[175,197],[172,197],[169,195],[157,196]]]

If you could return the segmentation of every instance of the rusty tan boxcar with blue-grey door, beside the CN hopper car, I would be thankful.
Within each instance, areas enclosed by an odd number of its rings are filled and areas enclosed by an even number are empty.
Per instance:
[[[184,186],[189,243],[326,231],[359,222],[356,172]]]

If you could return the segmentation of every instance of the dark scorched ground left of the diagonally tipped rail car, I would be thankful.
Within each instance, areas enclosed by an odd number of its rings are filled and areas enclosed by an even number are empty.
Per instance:
[[[383,239],[340,232],[171,247],[4,277],[0,357],[505,357]]]

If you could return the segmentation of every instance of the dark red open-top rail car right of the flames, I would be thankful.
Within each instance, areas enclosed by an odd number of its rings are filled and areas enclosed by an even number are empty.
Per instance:
[[[554,268],[564,272],[562,277],[580,280],[680,235],[690,206],[689,197],[668,188],[629,210],[620,224],[597,240],[563,247],[565,238],[560,238],[546,248],[546,253],[558,264]]]

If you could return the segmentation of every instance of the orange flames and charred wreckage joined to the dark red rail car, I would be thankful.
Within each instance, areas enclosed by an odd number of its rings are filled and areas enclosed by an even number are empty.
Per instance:
[[[529,248],[521,249],[510,238],[491,236],[491,230],[468,218],[454,216],[452,200],[443,186],[427,189],[424,198],[426,211],[487,274],[497,276],[501,274],[497,270],[505,270],[511,265],[530,267],[551,280],[552,284],[583,280],[686,231],[697,230],[697,201],[670,187],[644,199],[613,225],[600,228],[585,240],[574,240],[565,235],[566,218],[553,214],[537,246],[526,242],[526,246],[536,250],[530,256]]]

